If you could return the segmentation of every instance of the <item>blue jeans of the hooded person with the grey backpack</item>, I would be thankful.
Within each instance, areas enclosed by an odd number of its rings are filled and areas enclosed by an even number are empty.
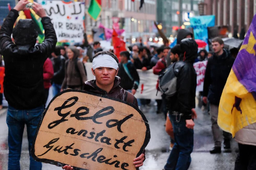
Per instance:
[[[179,120],[179,116],[177,119]],[[175,143],[169,155],[165,170],[187,170],[191,163],[190,154],[194,146],[194,130],[186,127],[185,119],[176,121],[176,116],[170,115],[172,121]]]

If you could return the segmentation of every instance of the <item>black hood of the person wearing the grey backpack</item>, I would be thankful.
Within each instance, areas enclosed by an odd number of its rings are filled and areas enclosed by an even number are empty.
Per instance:
[[[180,60],[194,63],[197,57],[198,45],[192,38],[185,38],[181,41],[181,55]]]

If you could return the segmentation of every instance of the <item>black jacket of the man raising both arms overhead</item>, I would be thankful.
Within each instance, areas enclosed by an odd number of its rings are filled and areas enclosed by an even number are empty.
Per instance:
[[[12,9],[0,30],[0,49],[5,64],[4,96],[16,109],[34,109],[44,104],[43,64],[53,51],[57,37],[51,19],[43,17],[44,42],[36,46],[22,42],[15,45],[11,33],[18,16],[18,11]]]

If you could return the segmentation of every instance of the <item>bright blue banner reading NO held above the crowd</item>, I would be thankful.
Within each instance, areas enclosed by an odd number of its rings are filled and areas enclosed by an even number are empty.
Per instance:
[[[194,30],[195,39],[205,41],[207,43],[205,49],[209,51],[207,27],[213,27],[215,25],[215,15],[191,17],[190,24]]]

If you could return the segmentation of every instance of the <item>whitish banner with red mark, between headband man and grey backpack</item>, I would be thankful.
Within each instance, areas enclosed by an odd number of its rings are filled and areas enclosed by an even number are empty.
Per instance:
[[[156,90],[158,75],[153,73],[153,70],[142,71],[138,70],[139,86],[135,93],[137,99],[162,99],[161,92]],[[157,95],[156,95],[157,93]]]

